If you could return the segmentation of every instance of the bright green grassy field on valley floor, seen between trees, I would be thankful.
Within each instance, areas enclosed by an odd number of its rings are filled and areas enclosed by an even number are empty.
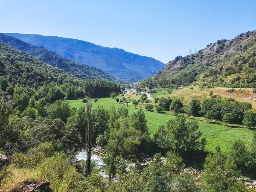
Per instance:
[[[121,97],[118,97],[121,99]],[[80,108],[81,106],[86,106],[85,103],[82,102],[82,99],[79,100],[69,100],[67,101],[70,104],[71,108]],[[120,106],[120,104],[116,103],[116,99],[112,98],[101,98],[98,102],[92,105],[92,108],[95,109],[97,106],[103,106],[108,109],[111,105],[114,105],[116,108]],[[133,112],[137,112],[140,108],[144,109],[143,106],[137,105],[137,109],[134,108],[134,105],[128,105],[129,114]],[[153,135],[160,125],[165,125],[169,119],[174,119],[175,116],[172,116],[170,112],[167,113],[156,113],[154,111],[144,111],[146,119],[148,120],[148,128]],[[207,138],[207,151],[214,151],[215,147],[220,145],[223,151],[227,151],[231,143],[235,140],[244,140],[249,147],[252,138],[253,131],[247,128],[230,128],[224,125],[217,125],[207,122],[198,121],[198,125],[200,130],[203,133],[203,137]]]

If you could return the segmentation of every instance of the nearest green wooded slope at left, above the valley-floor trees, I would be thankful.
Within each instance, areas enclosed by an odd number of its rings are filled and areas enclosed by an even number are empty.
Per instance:
[[[43,63],[26,52],[12,49],[0,41],[0,86],[2,90],[5,90],[8,84],[37,88],[52,81],[63,83],[76,80],[79,79],[64,70]]]

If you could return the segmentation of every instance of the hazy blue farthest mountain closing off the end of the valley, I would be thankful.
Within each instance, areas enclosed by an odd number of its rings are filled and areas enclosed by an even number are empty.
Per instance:
[[[26,43],[44,47],[79,63],[98,67],[122,81],[138,81],[154,76],[165,64],[154,58],[102,47],[87,41],[42,35],[6,33]]]

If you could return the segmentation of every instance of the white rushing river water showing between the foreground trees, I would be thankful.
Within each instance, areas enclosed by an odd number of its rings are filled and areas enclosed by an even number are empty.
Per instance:
[[[87,160],[87,152],[86,151],[81,151],[77,156],[77,160]],[[91,160],[93,160],[96,164],[96,168],[101,168],[104,163],[102,157],[96,154],[91,154]],[[135,167],[135,163],[131,163],[127,165],[126,170],[129,171],[129,167]],[[105,172],[100,173],[103,177],[108,177],[108,175],[105,174]]]

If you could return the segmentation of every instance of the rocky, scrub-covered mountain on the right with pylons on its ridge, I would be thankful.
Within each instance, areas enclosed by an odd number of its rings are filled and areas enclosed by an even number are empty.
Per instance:
[[[148,80],[147,80],[148,81]],[[185,57],[169,61],[151,81],[155,84],[256,88],[256,31],[229,41],[218,40]]]

